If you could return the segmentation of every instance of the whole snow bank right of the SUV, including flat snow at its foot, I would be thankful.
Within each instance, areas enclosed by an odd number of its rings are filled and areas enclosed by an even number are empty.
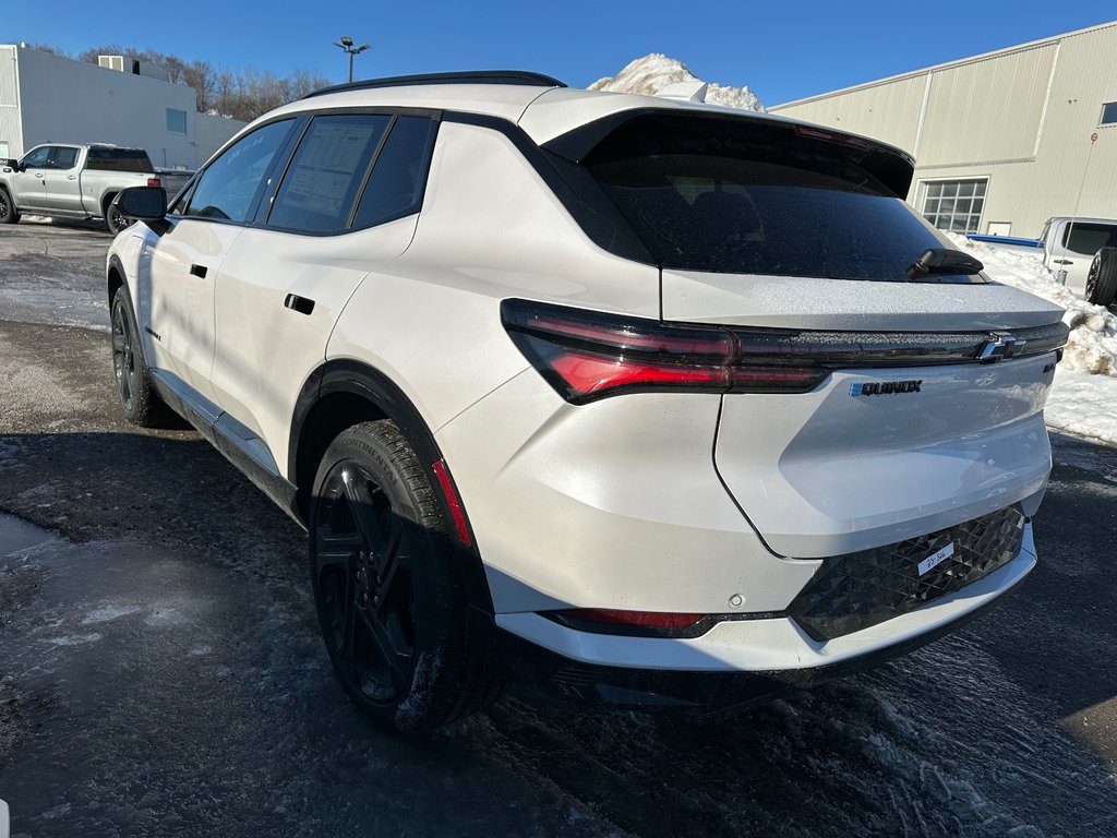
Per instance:
[[[962,250],[985,264],[999,283],[1022,288],[1067,310],[1070,337],[1043,411],[1048,426],[1117,445],[1117,316],[1079,299],[1034,256],[970,241],[947,234]],[[1094,373],[1094,374],[1089,374]]]

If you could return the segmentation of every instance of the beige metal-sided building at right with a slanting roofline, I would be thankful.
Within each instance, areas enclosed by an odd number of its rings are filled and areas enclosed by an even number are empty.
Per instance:
[[[768,111],[910,152],[908,201],[942,229],[1117,218],[1117,21]]]

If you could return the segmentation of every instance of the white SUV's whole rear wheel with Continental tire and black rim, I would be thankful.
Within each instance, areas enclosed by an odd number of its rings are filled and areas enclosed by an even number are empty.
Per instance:
[[[322,636],[362,712],[423,734],[496,698],[497,679],[467,641],[465,587],[435,493],[393,422],[334,439],[309,523]]]

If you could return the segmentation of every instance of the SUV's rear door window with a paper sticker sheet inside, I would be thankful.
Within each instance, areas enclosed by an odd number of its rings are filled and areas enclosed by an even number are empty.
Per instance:
[[[344,230],[390,121],[380,114],[316,116],[292,158],[268,226]]]

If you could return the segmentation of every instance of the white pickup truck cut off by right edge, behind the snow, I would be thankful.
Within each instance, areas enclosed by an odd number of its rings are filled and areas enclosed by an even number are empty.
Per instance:
[[[1051,218],[1038,239],[966,238],[1041,259],[1060,283],[1089,303],[1113,305],[1117,296],[1117,220],[1111,218]]]

